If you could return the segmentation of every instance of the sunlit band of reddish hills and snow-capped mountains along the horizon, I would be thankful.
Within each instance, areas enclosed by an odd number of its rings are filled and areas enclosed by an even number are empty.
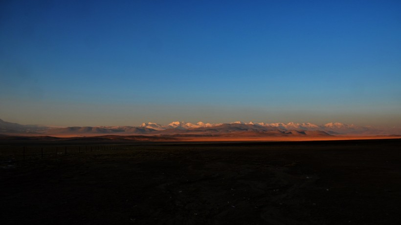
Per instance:
[[[142,123],[140,126],[72,126],[52,127],[22,125],[0,120],[0,134],[31,135],[175,135],[175,136],[296,136],[296,135],[400,135],[401,129],[377,129],[344,123],[188,123],[172,122],[167,125]]]

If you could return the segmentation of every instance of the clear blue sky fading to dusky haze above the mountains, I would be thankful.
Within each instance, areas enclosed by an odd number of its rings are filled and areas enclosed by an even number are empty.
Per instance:
[[[401,1],[3,0],[0,119],[401,127]]]

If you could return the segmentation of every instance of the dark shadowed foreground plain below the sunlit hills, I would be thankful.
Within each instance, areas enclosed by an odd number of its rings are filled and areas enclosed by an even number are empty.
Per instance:
[[[0,224],[401,224],[400,139],[86,144],[0,143]]]

